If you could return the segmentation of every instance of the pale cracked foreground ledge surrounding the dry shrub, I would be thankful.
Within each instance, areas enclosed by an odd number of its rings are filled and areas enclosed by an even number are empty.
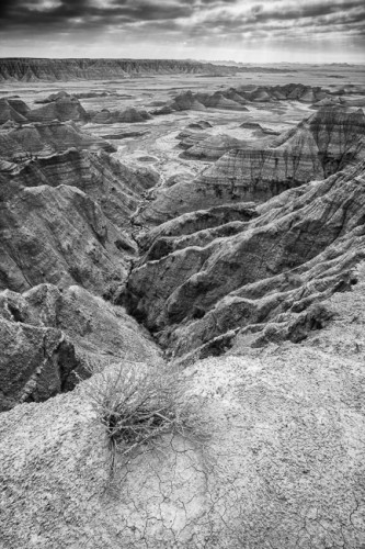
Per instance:
[[[42,549],[362,547],[364,293],[355,287],[351,298],[347,311],[349,293],[337,294],[338,320],[307,344],[241,347],[185,369],[186,393],[203,399],[204,445],[167,437],[127,466],[116,455],[113,477],[88,396],[102,377],[2,414],[7,549],[30,540]]]

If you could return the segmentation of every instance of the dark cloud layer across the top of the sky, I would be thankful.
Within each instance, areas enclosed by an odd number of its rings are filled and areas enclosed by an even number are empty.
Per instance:
[[[0,8],[0,32],[30,34],[115,27],[214,40],[283,29],[293,34],[304,27],[328,34],[334,25],[349,33],[364,21],[364,0],[2,0]]]

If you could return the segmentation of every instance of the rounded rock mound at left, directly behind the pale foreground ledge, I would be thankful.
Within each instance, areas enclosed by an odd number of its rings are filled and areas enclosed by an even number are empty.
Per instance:
[[[157,350],[121,309],[72,285],[0,292],[0,411],[70,391],[111,360],[151,360]]]

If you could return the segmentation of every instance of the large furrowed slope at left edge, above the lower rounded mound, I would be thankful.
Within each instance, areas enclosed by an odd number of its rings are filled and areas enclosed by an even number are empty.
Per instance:
[[[0,180],[0,287],[77,282],[111,296],[136,253],[125,227],[157,173],[68,150],[5,166]]]

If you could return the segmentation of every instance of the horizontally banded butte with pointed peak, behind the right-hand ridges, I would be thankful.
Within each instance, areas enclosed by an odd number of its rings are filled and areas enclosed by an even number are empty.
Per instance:
[[[263,202],[312,179],[322,179],[364,158],[362,110],[321,108],[270,148],[233,148],[195,180],[159,189],[140,212],[161,223],[184,212],[232,201]],[[203,142],[204,144],[204,142]]]

